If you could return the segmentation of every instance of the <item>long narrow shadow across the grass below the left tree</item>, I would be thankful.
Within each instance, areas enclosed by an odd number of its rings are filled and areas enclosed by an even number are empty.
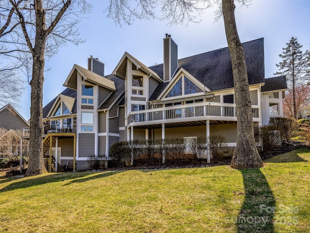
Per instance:
[[[57,173],[57,174],[52,174],[52,175],[47,175],[47,176],[33,176],[30,177],[27,180],[20,180],[16,181],[14,183],[11,183],[7,186],[4,186],[0,189],[1,192],[7,192],[15,189],[20,189],[20,188],[28,188],[31,186],[38,186],[46,183],[55,183],[55,182],[62,182],[62,181],[67,181],[68,183],[64,185],[69,185],[72,183],[81,183],[81,182],[86,182],[89,180],[93,179],[99,179],[103,177],[108,177],[117,173],[120,173],[122,171],[111,171],[111,172],[74,172],[74,173]],[[10,180],[10,179],[8,179]],[[10,180],[14,181],[14,180]]]

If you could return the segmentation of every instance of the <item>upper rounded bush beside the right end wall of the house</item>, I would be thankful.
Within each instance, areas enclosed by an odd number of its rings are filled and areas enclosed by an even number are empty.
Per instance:
[[[281,135],[282,143],[287,143],[298,129],[297,122],[294,119],[285,117],[270,118],[270,125],[277,126],[277,130],[279,130]]]

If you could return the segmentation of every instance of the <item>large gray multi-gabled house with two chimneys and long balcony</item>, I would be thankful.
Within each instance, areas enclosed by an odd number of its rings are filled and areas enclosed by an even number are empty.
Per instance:
[[[263,38],[243,47],[253,124],[261,126],[270,117],[283,116],[286,80],[284,76],[265,79]],[[166,34],[163,54],[163,64],[147,67],[125,52],[107,76],[104,63],[92,56],[88,69],[73,66],[63,84],[66,89],[43,109],[45,133],[58,139],[57,145],[50,139],[49,151],[58,155],[60,165],[69,161],[69,166],[85,169],[90,155],[109,156],[112,144],[133,139],[221,134],[229,146],[235,146],[229,49],[179,59],[177,44]]]

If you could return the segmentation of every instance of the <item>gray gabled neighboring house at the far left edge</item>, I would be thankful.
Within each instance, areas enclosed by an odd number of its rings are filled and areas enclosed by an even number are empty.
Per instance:
[[[0,129],[0,158],[6,158],[8,157],[8,154],[16,154],[16,144],[18,143],[19,145],[18,140],[20,139],[18,138],[21,136],[20,134],[17,135],[16,132],[19,130],[24,133],[29,132],[29,123],[12,107],[11,104],[7,104],[0,109]],[[4,137],[6,138],[4,139]],[[9,145],[11,139],[12,144],[14,145]]]

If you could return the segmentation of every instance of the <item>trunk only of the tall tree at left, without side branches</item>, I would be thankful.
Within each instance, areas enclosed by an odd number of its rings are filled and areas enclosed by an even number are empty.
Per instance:
[[[47,172],[43,159],[43,83],[44,83],[44,52],[47,40],[45,11],[42,0],[35,0],[36,36],[32,50],[32,79],[30,107],[30,142],[29,161],[26,176],[39,175]]]

